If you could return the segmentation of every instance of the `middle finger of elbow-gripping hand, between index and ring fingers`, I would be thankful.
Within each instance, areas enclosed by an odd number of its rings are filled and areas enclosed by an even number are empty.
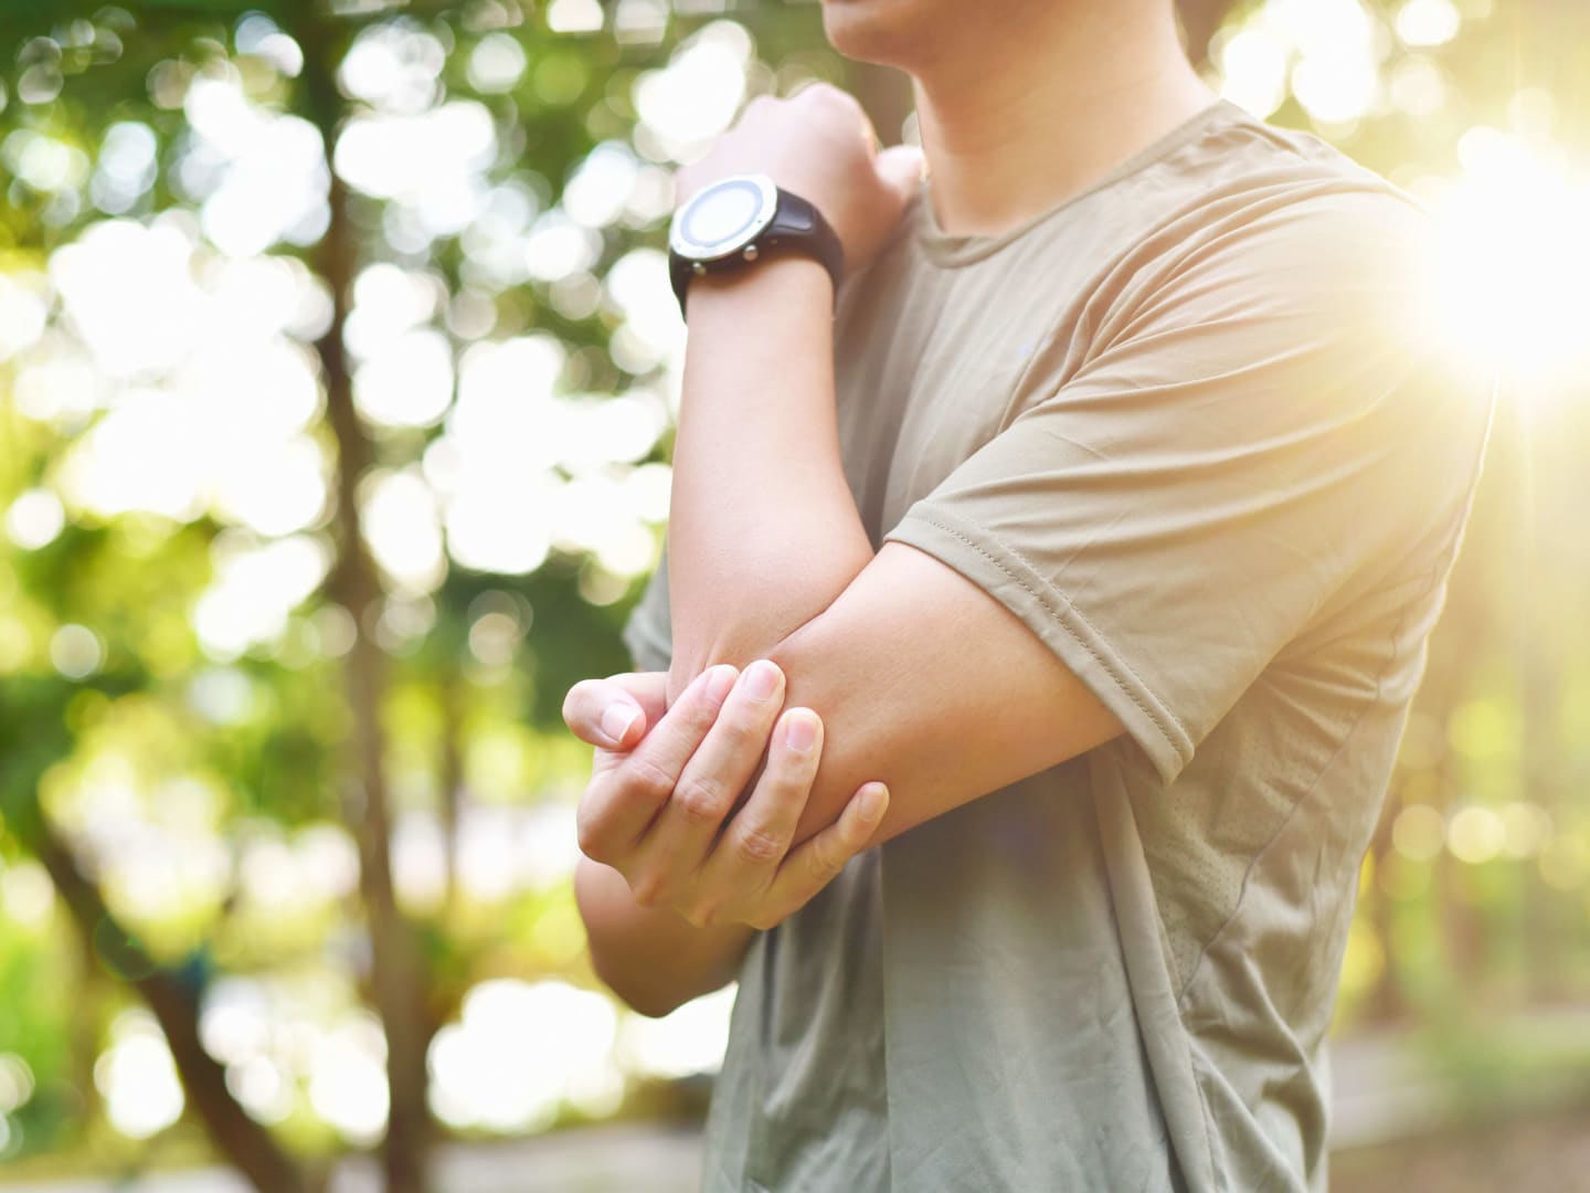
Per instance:
[[[674,889],[693,878],[719,829],[750,781],[784,705],[784,673],[760,659],[746,668],[717,722],[690,756],[657,826],[647,835],[652,884]]]

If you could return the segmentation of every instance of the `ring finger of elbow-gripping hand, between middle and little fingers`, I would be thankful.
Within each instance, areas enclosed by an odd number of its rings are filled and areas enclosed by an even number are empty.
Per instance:
[[[809,708],[785,711],[773,730],[768,768],[757,789],[712,846],[704,886],[743,889],[757,881],[758,872],[778,869],[795,841],[820,757],[822,719]],[[760,881],[766,886],[768,876]]]

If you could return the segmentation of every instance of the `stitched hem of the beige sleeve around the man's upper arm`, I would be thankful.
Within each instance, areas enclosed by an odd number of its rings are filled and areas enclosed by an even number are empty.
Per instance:
[[[1192,760],[1192,740],[1170,709],[1065,595],[999,538],[917,503],[884,539],[932,555],[1019,617],[1115,713],[1162,783],[1169,786]]]

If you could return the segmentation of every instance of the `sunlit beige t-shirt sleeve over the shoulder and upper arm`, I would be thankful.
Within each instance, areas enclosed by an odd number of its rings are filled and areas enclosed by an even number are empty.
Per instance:
[[[1026,622],[1169,784],[1345,585],[1450,562],[1490,382],[1417,317],[1426,251],[1390,192],[1189,251],[886,538]]]

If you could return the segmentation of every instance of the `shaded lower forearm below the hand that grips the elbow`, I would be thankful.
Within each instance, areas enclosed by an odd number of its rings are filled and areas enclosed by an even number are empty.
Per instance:
[[[596,975],[642,1015],[666,1015],[733,981],[754,935],[744,924],[695,927],[634,902],[617,870],[582,857],[574,897]]]

